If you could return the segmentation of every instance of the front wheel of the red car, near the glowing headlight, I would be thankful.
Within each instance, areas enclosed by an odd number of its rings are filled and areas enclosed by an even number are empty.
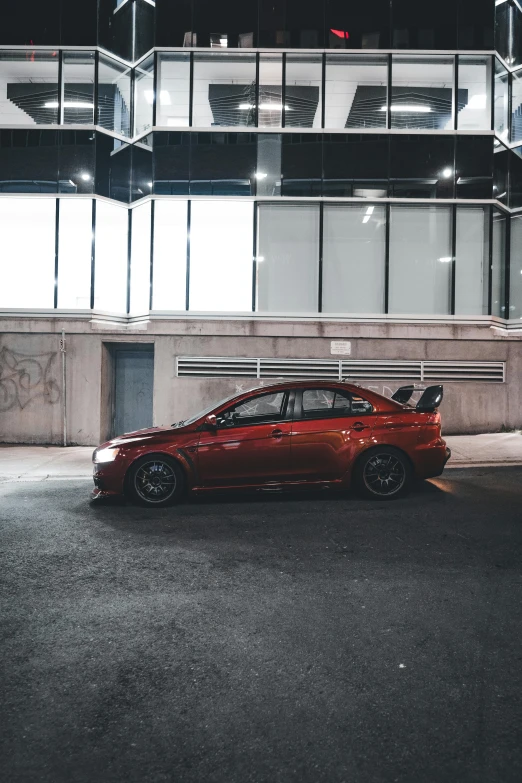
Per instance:
[[[179,503],[184,491],[183,470],[176,460],[165,454],[140,457],[127,473],[125,494],[139,506],[172,506]]]

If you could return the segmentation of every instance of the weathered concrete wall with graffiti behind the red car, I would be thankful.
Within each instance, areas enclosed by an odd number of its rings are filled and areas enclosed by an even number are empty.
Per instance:
[[[154,343],[154,423],[159,425],[260,384],[255,378],[178,378],[177,356],[332,358],[330,341],[349,339],[353,359],[507,362],[505,384],[445,384],[443,428],[457,434],[522,427],[522,339],[489,324],[165,319],[133,327],[90,317],[12,317],[0,319],[0,442],[62,442],[62,328],[69,444],[96,445],[107,437],[111,371],[105,345],[120,341]],[[361,381],[381,393],[402,383]]]

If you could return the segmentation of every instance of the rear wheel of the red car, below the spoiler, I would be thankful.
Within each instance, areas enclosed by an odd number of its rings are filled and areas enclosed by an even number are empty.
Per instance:
[[[411,487],[411,463],[393,446],[377,446],[365,451],[355,464],[353,482],[357,492],[372,500],[396,500]]]

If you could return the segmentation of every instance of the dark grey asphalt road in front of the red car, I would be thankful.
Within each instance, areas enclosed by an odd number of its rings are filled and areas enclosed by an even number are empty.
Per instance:
[[[522,468],[404,500],[0,484],[8,783],[522,780]]]

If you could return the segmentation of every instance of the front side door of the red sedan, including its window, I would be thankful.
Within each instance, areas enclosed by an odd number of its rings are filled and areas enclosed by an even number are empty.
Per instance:
[[[291,413],[286,390],[257,394],[217,415],[217,429],[201,433],[200,483],[207,487],[282,483],[290,473]]]

